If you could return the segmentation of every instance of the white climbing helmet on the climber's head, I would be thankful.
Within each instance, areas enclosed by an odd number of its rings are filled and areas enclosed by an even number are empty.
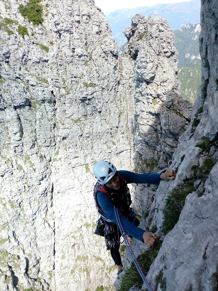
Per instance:
[[[100,160],[95,164],[93,173],[98,182],[102,185],[106,184],[116,174],[116,167],[110,161]]]

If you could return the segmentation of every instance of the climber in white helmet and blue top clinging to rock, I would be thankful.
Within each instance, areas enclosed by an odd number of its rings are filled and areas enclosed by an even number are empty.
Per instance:
[[[176,174],[173,170],[165,170],[160,174],[137,174],[123,170],[117,171],[112,163],[105,160],[100,160],[95,164],[93,173],[98,181],[94,189],[96,208],[101,215],[101,219],[106,222],[106,225],[113,226],[114,237],[111,238],[110,247],[107,246],[107,249],[111,250],[111,255],[118,267],[119,275],[123,271],[119,252],[121,234],[118,231],[114,206],[119,210],[119,216],[125,233],[146,243],[148,247],[152,247],[155,244],[157,236],[152,232],[146,232],[137,227],[139,220],[130,209],[131,196],[127,184],[154,184],[158,183],[161,179],[173,180]]]

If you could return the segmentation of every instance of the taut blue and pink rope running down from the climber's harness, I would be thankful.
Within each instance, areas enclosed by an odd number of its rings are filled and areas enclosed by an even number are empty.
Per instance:
[[[122,237],[123,237],[123,239],[124,239],[124,241],[125,241],[125,243],[126,243],[126,245],[127,245],[127,248],[128,248],[128,250],[129,250],[129,252],[130,252],[130,254],[131,254],[131,256],[132,256],[132,260],[133,260],[133,262],[134,262],[134,264],[135,264],[135,267],[136,267],[136,269],[138,270],[138,273],[140,274],[140,276],[141,276],[141,278],[142,278],[144,284],[145,284],[146,287],[148,288],[148,291],[153,291],[152,287],[149,285],[149,282],[148,282],[148,280],[146,279],[146,276],[144,275],[144,273],[143,273],[143,271],[142,271],[142,269],[141,269],[141,266],[139,265],[139,263],[138,263],[138,261],[137,261],[137,258],[136,258],[135,254],[134,254],[134,252],[133,252],[133,250],[132,250],[132,248],[131,248],[131,245],[130,245],[130,243],[129,243],[127,237],[126,237],[126,234],[125,234],[124,229],[123,229],[123,225],[122,225],[121,220],[120,220],[119,211],[118,211],[118,209],[117,209],[116,206],[114,207],[114,211],[115,211],[115,215],[116,215],[116,219],[117,219],[118,227],[119,227],[120,232],[121,232],[121,234],[122,234]]]

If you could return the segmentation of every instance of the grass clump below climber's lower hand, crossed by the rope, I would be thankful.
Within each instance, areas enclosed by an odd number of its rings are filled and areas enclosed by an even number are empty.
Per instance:
[[[158,255],[161,243],[157,242],[150,250],[145,251],[137,257],[137,261],[141,266],[141,269],[145,275],[147,275],[150,266]],[[141,276],[139,275],[134,263],[131,264],[131,267],[126,270],[125,275],[122,277],[122,282],[119,291],[128,291],[133,284],[141,286],[143,283]]]

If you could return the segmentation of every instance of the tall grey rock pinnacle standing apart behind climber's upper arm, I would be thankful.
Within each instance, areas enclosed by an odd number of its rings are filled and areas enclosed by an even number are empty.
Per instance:
[[[124,33],[134,60],[135,147],[143,170],[163,169],[191,114],[190,104],[179,98],[174,35],[157,15],[136,15]]]

